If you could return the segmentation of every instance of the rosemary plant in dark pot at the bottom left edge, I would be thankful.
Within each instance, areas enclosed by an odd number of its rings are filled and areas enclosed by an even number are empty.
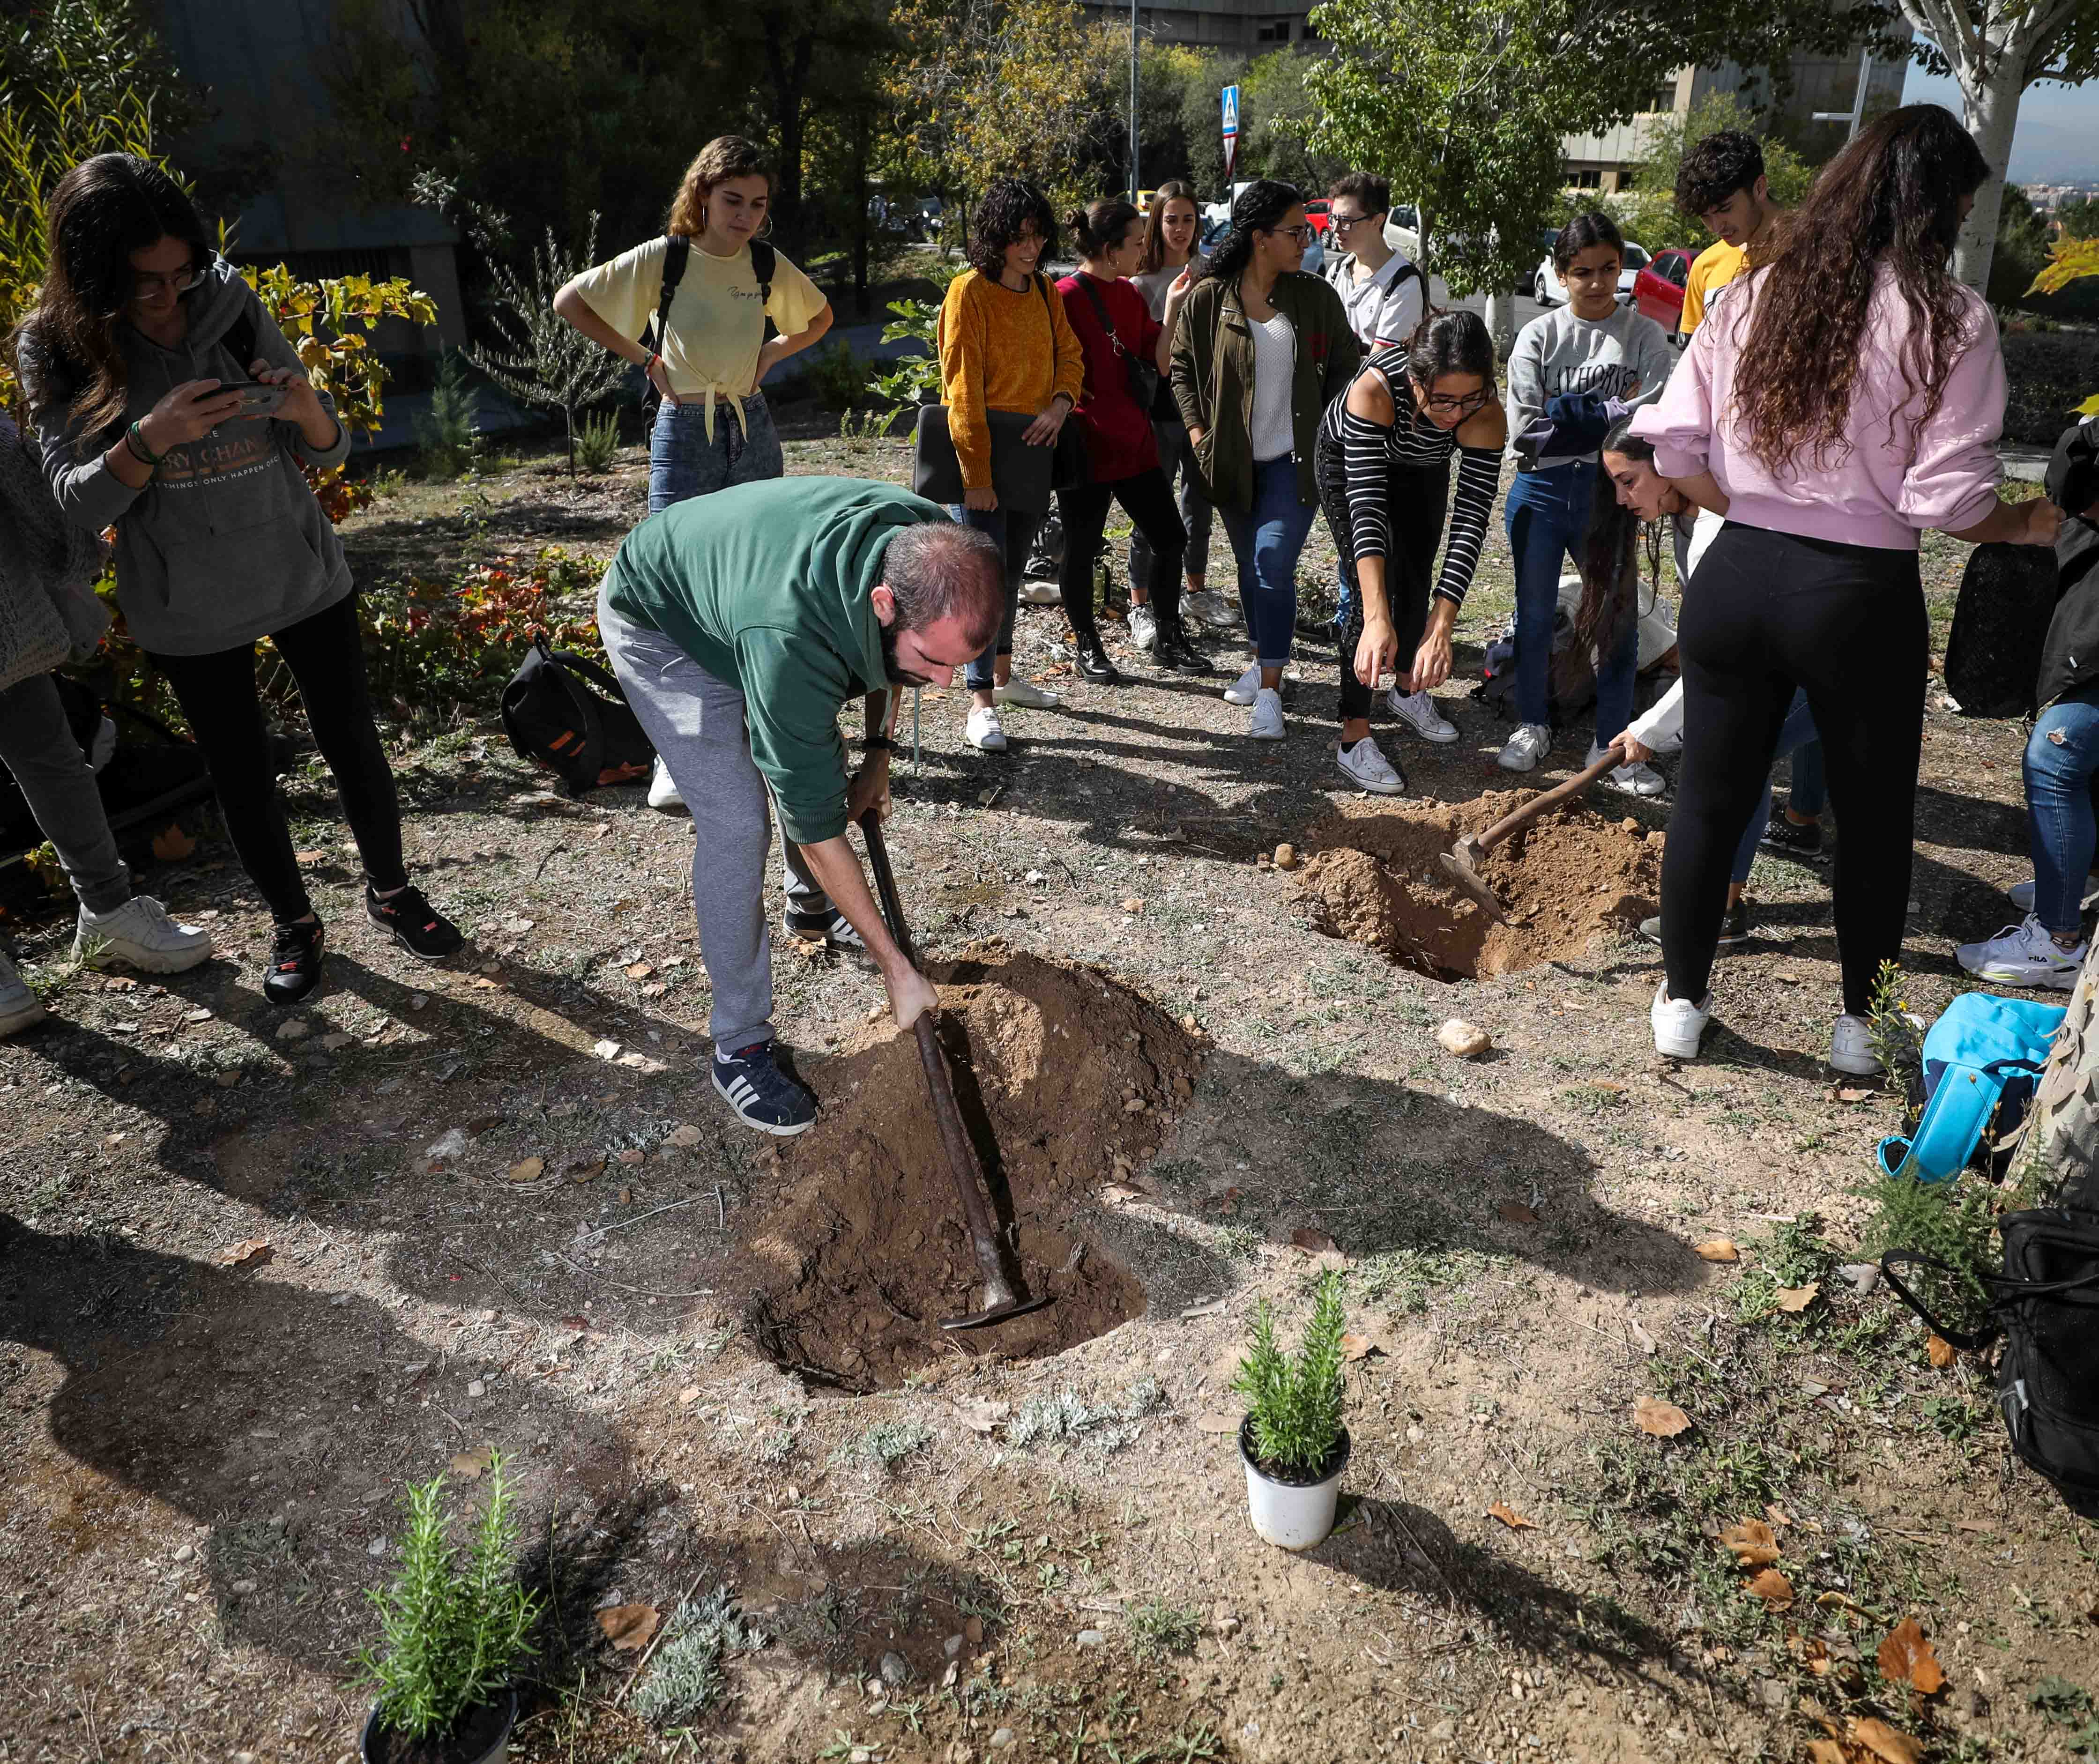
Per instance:
[[[357,1680],[378,1693],[365,1764],[504,1764],[510,1749],[510,1674],[533,1653],[539,1596],[518,1586],[502,1456],[489,1454],[489,1504],[464,1558],[439,1514],[443,1489],[443,1477],[409,1487],[401,1573],[372,1594],[380,1642],[359,1655]]]

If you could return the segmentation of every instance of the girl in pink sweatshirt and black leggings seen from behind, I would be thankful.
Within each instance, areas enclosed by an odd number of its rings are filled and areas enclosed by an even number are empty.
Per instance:
[[[2000,503],[2005,363],[1990,308],[1948,271],[1988,174],[1935,105],[1839,153],[1763,262],[1692,334],[1633,417],[1665,478],[1727,516],[1683,596],[1683,772],[1662,858],[1654,1047],[1692,1057],[1727,868],[1795,690],[1843,824],[1839,1072],[1879,1072],[1866,1007],[1902,954],[1929,661],[1916,539],[2047,545],[2051,503]]]

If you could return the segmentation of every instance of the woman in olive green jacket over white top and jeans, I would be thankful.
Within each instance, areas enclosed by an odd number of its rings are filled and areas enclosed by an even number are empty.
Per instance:
[[[1255,740],[1282,740],[1297,554],[1318,512],[1312,447],[1362,354],[1341,296],[1297,268],[1310,239],[1295,189],[1249,185],[1173,334],[1173,399],[1232,539],[1253,642],[1253,667],[1224,696],[1253,707]]]

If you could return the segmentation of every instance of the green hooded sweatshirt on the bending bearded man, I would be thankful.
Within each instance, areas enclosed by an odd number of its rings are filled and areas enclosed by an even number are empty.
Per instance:
[[[846,831],[838,711],[888,686],[869,591],[938,503],[869,478],[766,478],[672,503],[619,545],[605,602],[743,692],[751,759],[798,845]]]

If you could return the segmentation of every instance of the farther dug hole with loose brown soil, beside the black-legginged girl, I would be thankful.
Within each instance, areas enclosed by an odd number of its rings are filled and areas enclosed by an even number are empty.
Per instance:
[[[1301,887],[1312,923],[1436,980],[1473,980],[1578,954],[1610,927],[1654,912],[1660,837],[1635,820],[1560,808],[1486,854],[1482,875],[1509,915],[1492,923],[1436,866],[1461,833],[1484,833],[1526,791],[1469,803],[1345,803],[1312,829]]]

